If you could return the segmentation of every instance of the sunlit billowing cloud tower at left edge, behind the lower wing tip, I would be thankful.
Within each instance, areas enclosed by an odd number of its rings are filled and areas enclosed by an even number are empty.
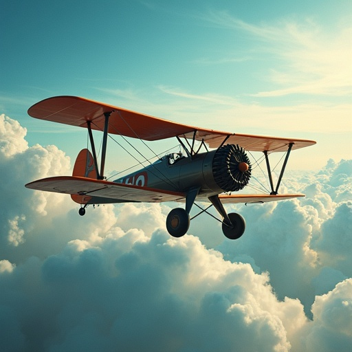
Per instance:
[[[19,122],[5,115],[0,116],[0,168],[3,180],[0,183],[0,255],[10,255],[6,259],[13,259],[11,255],[17,253],[12,252],[11,247],[13,249],[25,243],[32,229],[38,230],[41,217],[48,212],[51,214],[43,219],[45,222],[48,218],[52,219],[52,215],[62,214],[63,210],[66,213],[66,209],[72,207],[63,206],[67,200],[61,195],[31,192],[24,188],[24,184],[33,179],[67,175],[70,168],[69,158],[56,146],[28,147],[26,133]]]

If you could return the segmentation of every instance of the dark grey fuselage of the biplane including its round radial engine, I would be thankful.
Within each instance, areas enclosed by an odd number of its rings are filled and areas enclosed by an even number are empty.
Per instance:
[[[226,144],[215,151],[187,157],[168,154],[115,182],[184,193],[197,189],[199,197],[211,197],[243,189],[250,176],[250,160],[243,148]]]

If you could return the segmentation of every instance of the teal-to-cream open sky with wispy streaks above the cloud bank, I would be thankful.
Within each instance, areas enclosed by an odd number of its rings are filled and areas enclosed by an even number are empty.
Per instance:
[[[317,169],[351,155],[351,10],[350,1],[6,1],[0,109],[30,144],[70,157],[85,131],[30,119],[30,105],[76,95],[195,126],[317,140],[291,162]]]

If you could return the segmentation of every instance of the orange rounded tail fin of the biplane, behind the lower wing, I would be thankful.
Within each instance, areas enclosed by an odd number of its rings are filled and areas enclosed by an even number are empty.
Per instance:
[[[72,176],[89,177],[90,179],[98,178],[93,155],[91,155],[91,152],[87,148],[82,149],[78,153]],[[87,204],[91,200],[91,197],[88,195],[71,195],[71,198],[78,204]]]

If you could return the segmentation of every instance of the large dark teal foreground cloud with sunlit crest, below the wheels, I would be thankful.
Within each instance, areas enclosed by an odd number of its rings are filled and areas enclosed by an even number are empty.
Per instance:
[[[107,236],[100,246],[76,240],[1,277],[1,302],[20,316],[21,333],[34,349],[228,351],[244,342],[258,349],[265,340],[268,351],[286,351],[283,320],[290,315],[295,324],[305,322],[298,301],[278,302],[266,274],[223,261],[195,237],[176,241],[159,231],[111,257],[108,247],[125,241],[133,236]],[[12,329],[5,321],[1,328],[3,334]]]

